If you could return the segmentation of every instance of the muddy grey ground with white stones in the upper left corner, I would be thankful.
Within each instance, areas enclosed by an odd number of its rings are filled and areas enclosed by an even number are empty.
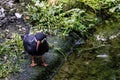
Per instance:
[[[28,25],[26,15],[26,4],[28,0],[1,0],[0,1],[0,42],[12,38],[12,33],[23,34]]]

